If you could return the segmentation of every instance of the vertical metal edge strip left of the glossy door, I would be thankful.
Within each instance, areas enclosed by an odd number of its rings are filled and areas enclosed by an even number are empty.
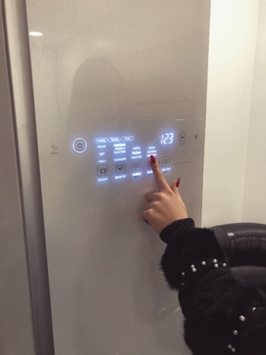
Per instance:
[[[1,5],[13,104],[36,354],[54,355],[26,1],[1,0]]]

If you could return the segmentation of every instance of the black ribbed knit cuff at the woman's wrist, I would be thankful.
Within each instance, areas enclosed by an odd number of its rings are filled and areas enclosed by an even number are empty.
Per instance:
[[[192,218],[178,220],[169,224],[165,227],[165,229],[163,229],[163,231],[160,232],[160,239],[168,244],[175,233],[178,233],[178,235],[185,236],[186,234],[189,234],[194,231],[194,229],[195,225],[194,220],[192,220]]]

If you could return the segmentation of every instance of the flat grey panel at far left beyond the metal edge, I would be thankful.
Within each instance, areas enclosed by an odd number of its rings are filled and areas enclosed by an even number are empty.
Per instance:
[[[0,353],[34,355],[24,224],[0,3]]]

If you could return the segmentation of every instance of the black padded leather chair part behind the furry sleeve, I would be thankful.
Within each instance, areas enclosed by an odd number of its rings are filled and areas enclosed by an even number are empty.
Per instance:
[[[266,224],[233,223],[211,228],[235,276],[266,291]]]

